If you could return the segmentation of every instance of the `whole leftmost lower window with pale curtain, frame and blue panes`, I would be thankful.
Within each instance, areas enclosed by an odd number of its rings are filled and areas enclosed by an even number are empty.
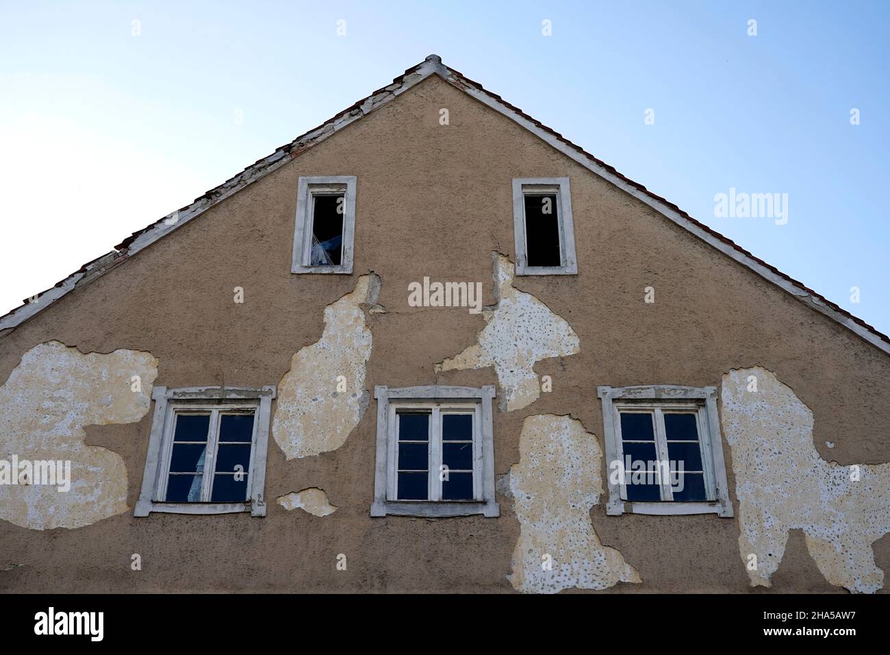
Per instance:
[[[265,516],[263,483],[274,387],[155,387],[135,516],[150,512]]]

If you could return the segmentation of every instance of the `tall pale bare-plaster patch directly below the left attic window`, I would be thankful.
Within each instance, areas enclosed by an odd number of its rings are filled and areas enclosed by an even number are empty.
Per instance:
[[[361,275],[354,291],[325,307],[321,339],[291,358],[290,370],[279,382],[272,422],[272,437],[287,459],[343,446],[368,408],[364,386],[371,331],[362,305],[381,311],[379,292],[376,274]]]

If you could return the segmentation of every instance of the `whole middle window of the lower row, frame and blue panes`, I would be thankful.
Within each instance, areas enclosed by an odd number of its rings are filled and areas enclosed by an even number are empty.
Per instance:
[[[492,386],[377,386],[371,516],[498,516]]]

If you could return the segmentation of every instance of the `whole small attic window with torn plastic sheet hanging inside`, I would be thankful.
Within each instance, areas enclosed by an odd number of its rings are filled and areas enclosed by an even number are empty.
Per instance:
[[[352,273],[355,176],[300,177],[291,273]]]

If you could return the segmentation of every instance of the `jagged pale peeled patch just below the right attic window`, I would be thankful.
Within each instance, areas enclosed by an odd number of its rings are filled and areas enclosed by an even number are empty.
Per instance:
[[[535,363],[547,357],[574,355],[579,349],[578,335],[543,302],[514,289],[514,265],[509,259],[497,252],[492,258],[498,301],[482,312],[488,324],[479,333],[479,342],[436,364],[435,370],[494,366],[501,386],[499,406],[504,412],[512,412],[540,396]]]

